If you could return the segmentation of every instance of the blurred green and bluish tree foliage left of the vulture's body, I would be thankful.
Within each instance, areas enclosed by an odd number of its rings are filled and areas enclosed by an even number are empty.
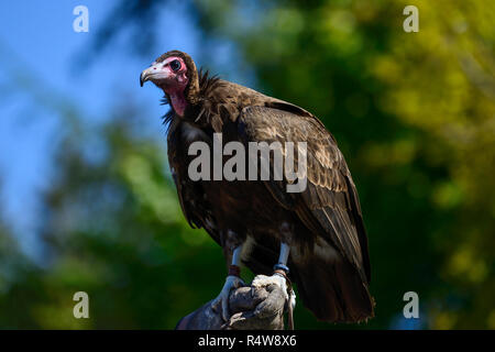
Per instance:
[[[132,136],[130,107],[116,113],[128,122],[91,131],[105,142],[100,160],[88,160],[74,134],[63,141],[42,227],[51,262],[15,273],[0,295],[1,326],[173,328],[222,285],[210,275],[211,267],[224,270],[221,250],[183,219],[164,175],[165,151]],[[89,295],[88,320],[73,317],[79,290]]]

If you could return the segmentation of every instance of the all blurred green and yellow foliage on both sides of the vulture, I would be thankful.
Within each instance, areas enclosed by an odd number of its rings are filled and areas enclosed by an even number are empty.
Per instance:
[[[419,8],[418,33],[403,31],[406,4]],[[495,329],[492,2],[193,9],[205,37],[237,44],[260,90],[312,111],[337,138],[370,238],[376,318],[360,327],[389,328],[414,290],[422,328]],[[76,132],[64,141],[44,197],[50,265],[0,238],[0,327],[169,329],[220,290],[221,250],[185,222],[165,142],[136,136],[130,113],[91,132],[105,143],[99,162]],[[77,290],[90,296],[88,320],[72,316]],[[333,327],[301,304],[295,319]]]

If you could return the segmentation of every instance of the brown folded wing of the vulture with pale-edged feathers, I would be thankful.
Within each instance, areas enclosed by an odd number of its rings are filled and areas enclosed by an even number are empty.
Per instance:
[[[239,119],[239,131],[245,142],[279,142],[285,155],[285,142],[307,143],[307,188],[300,194],[287,194],[288,180],[266,182],[274,198],[294,210],[305,226],[321,235],[358,268],[362,279],[370,282],[367,239],[363,226],[358,193],[336,140],[310,113],[276,108],[248,107]],[[294,153],[297,165],[297,153]]]

